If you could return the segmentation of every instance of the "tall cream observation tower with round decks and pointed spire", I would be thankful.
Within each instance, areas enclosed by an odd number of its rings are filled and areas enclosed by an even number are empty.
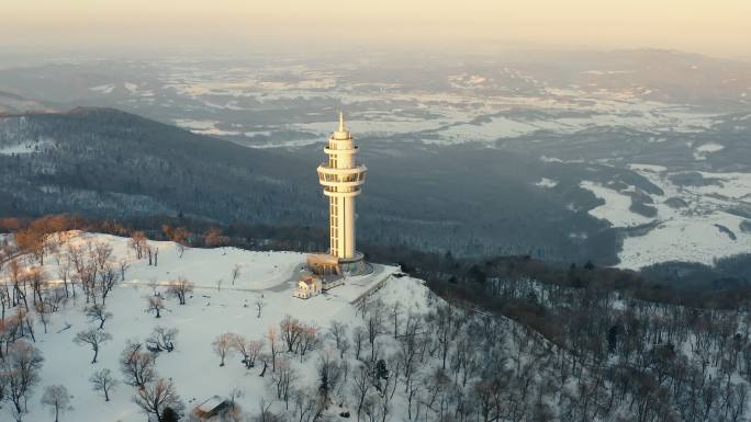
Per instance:
[[[357,162],[357,151],[344,114],[339,113],[339,127],[324,148],[328,162],[318,166],[317,170],[324,195],[328,196],[328,253],[350,272],[357,272],[362,262],[362,254],[355,250],[355,197],[360,194],[368,170]]]

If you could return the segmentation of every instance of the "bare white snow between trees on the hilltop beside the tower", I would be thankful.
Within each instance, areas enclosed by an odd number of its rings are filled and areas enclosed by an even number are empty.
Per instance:
[[[214,395],[228,397],[231,390],[238,388],[244,396],[238,399],[247,411],[256,412],[259,400],[267,403],[276,401],[269,387],[270,376],[259,377],[260,367],[245,369],[235,352],[227,355],[227,364],[220,367],[220,358],[212,351],[212,341],[222,333],[234,332],[248,339],[262,339],[269,328],[279,328],[285,315],[318,328],[321,334],[332,321],[352,322],[356,320],[355,307],[350,301],[369,289],[372,284],[390,278],[394,267],[377,265],[370,276],[351,277],[345,286],[307,300],[292,297],[296,285],[300,264],[305,255],[291,252],[250,252],[233,248],[188,249],[179,258],[178,249],[171,242],[149,242],[158,248],[158,266],[149,266],[146,260],[135,260],[133,250],[125,238],[105,235],[81,233],[71,242],[85,244],[87,240],[112,246],[114,256],[126,259],[131,266],[126,270],[125,283],[121,283],[107,299],[107,308],[113,317],[107,320],[104,331],[112,340],[103,343],[97,364],[91,364],[92,351],[89,346],[74,343],[77,332],[92,327],[83,309],[86,304],[81,292],[76,299],[64,305],[58,312],[51,315],[47,332],[44,333],[37,320],[36,343],[45,358],[41,370],[41,383],[29,399],[30,413],[24,421],[51,421],[49,413],[40,406],[41,391],[48,385],[64,385],[72,396],[72,409],[66,411],[60,421],[76,422],[143,422],[144,413],[133,403],[135,389],[120,384],[112,392],[111,401],[91,389],[89,377],[99,369],[109,368],[121,378],[120,354],[128,339],[144,341],[156,326],[179,330],[176,350],[161,352],[156,361],[160,377],[175,381],[178,394],[190,410],[200,401]],[[57,274],[53,256],[45,263],[45,272]],[[239,275],[232,283],[232,270],[239,266]],[[166,309],[160,318],[146,311],[146,298],[153,296],[149,284],[156,282],[157,290],[164,294],[166,284],[178,276],[195,283],[194,293],[187,305],[167,297]],[[2,280],[2,278],[0,278]],[[220,283],[221,281],[221,283]],[[379,296],[402,298],[413,309],[426,307],[427,292],[422,283],[410,278],[390,278]],[[265,306],[258,318],[256,304]],[[301,385],[315,383],[315,364],[299,364],[299,356],[291,355],[292,365],[298,368]],[[295,362],[296,360],[296,362]],[[315,362],[315,361],[311,361]],[[283,404],[283,403],[282,403]],[[0,420],[10,421],[10,403],[0,409]],[[273,409],[279,408],[274,404]]]

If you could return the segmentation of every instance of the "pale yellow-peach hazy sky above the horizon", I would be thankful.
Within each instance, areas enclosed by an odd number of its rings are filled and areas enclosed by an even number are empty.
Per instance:
[[[751,0],[0,0],[0,47],[478,42],[751,56]]]

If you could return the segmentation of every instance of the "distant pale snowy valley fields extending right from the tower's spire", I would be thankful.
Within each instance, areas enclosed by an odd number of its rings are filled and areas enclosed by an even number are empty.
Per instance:
[[[455,145],[493,142],[538,132],[561,135],[596,127],[623,127],[652,133],[696,133],[710,128],[716,115],[699,113],[676,104],[644,102],[620,98],[617,93],[592,95],[583,91],[565,93],[564,99],[551,96],[467,96],[460,93],[389,93],[354,94],[343,92],[343,102],[356,112],[349,125],[360,136],[394,137],[423,135],[426,144]],[[324,95],[322,93],[322,95]],[[392,102],[415,104],[415,109],[381,111],[380,104]],[[400,118],[404,112],[430,110],[425,118]],[[528,114],[519,113],[525,111]],[[572,112],[580,117],[570,117]],[[543,113],[540,115],[539,113]],[[330,132],[329,116],[323,122],[292,124],[285,128],[326,136]],[[430,135],[430,136],[427,136]],[[709,148],[709,149],[707,149]],[[715,152],[711,146],[697,153]]]

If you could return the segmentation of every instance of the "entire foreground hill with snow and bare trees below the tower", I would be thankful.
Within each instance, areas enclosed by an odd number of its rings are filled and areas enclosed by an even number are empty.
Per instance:
[[[25,254],[11,238],[0,243],[11,252],[0,269],[3,421],[48,421],[49,411],[76,422],[746,413],[743,312],[655,306],[607,280],[431,285],[444,297],[464,289],[449,305],[375,265],[302,300],[292,297],[301,253],[187,249],[138,232],[58,232]],[[569,277],[617,274],[582,271]]]

